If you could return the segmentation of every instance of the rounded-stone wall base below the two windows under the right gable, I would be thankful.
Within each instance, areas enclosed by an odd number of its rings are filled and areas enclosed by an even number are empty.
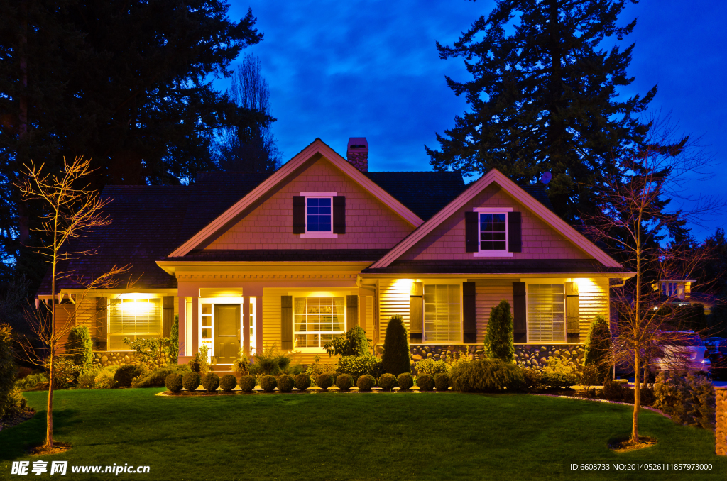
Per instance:
[[[484,351],[482,344],[459,344],[459,345],[432,345],[432,344],[411,344],[411,359],[413,362],[427,357],[433,360],[445,359],[447,353],[454,355],[455,352],[467,352],[470,359],[482,359]],[[515,345],[515,361],[526,366],[544,367],[550,357],[559,357],[563,360],[571,360],[581,363],[585,349],[583,344],[517,344]]]

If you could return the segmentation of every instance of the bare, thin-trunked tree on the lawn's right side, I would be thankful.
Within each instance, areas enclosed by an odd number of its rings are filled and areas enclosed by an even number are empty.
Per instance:
[[[673,142],[668,121],[651,125],[649,142],[620,159],[617,173],[605,174],[608,194],[598,199],[601,213],[584,217],[585,233],[619,252],[624,267],[635,272],[611,297],[618,320],[608,360],[627,363],[635,373],[631,442],[638,442],[640,373],[657,359],[672,368],[687,367],[683,347],[694,341],[683,310],[661,308],[677,299],[676,293],[664,296],[658,281],[695,278],[710,250],[688,241],[685,226],[700,225],[724,207],[716,198],[685,194],[687,182],[708,178],[710,163],[702,151],[688,137]],[[679,205],[670,211],[671,203]],[[664,242],[667,236],[672,242]]]

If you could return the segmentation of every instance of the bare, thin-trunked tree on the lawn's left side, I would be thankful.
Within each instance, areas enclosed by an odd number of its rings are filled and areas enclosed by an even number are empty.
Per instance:
[[[93,248],[81,247],[79,240],[96,227],[111,224],[111,219],[103,214],[103,208],[113,199],[101,198],[87,182],[93,175],[91,163],[84,158],[75,158],[73,162],[63,160],[63,169],[57,174],[43,171],[43,165],[32,163],[24,166],[22,183],[17,188],[25,200],[39,200],[44,207],[44,219],[38,231],[45,234],[42,238],[47,243],[39,246],[49,264],[51,299],[49,306],[42,304],[31,312],[29,323],[36,339],[25,339],[21,346],[26,357],[36,365],[44,366],[49,371],[47,430],[44,448],[53,448],[53,389],[55,385],[55,363],[57,355],[63,348],[62,342],[73,328],[74,316],[59,316],[60,296],[56,299],[57,281],[64,278],[75,278],[76,283],[84,286],[84,291],[75,299],[76,304],[83,304],[87,294],[95,289],[112,288],[117,285],[117,278],[129,270],[129,267],[113,266],[111,270],[96,278],[79,278],[74,272],[63,271],[62,263],[70,259],[78,259],[95,253]],[[60,318],[64,319],[61,320]]]

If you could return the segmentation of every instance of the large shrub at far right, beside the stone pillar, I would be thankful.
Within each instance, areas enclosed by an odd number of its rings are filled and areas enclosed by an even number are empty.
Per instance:
[[[712,429],[715,425],[715,387],[702,376],[660,371],[654,384],[654,408],[678,424]]]

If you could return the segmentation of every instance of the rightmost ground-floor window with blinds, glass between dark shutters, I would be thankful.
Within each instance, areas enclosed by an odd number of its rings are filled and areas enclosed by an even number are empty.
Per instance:
[[[528,342],[566,341],[563,284],[528,285]]]

